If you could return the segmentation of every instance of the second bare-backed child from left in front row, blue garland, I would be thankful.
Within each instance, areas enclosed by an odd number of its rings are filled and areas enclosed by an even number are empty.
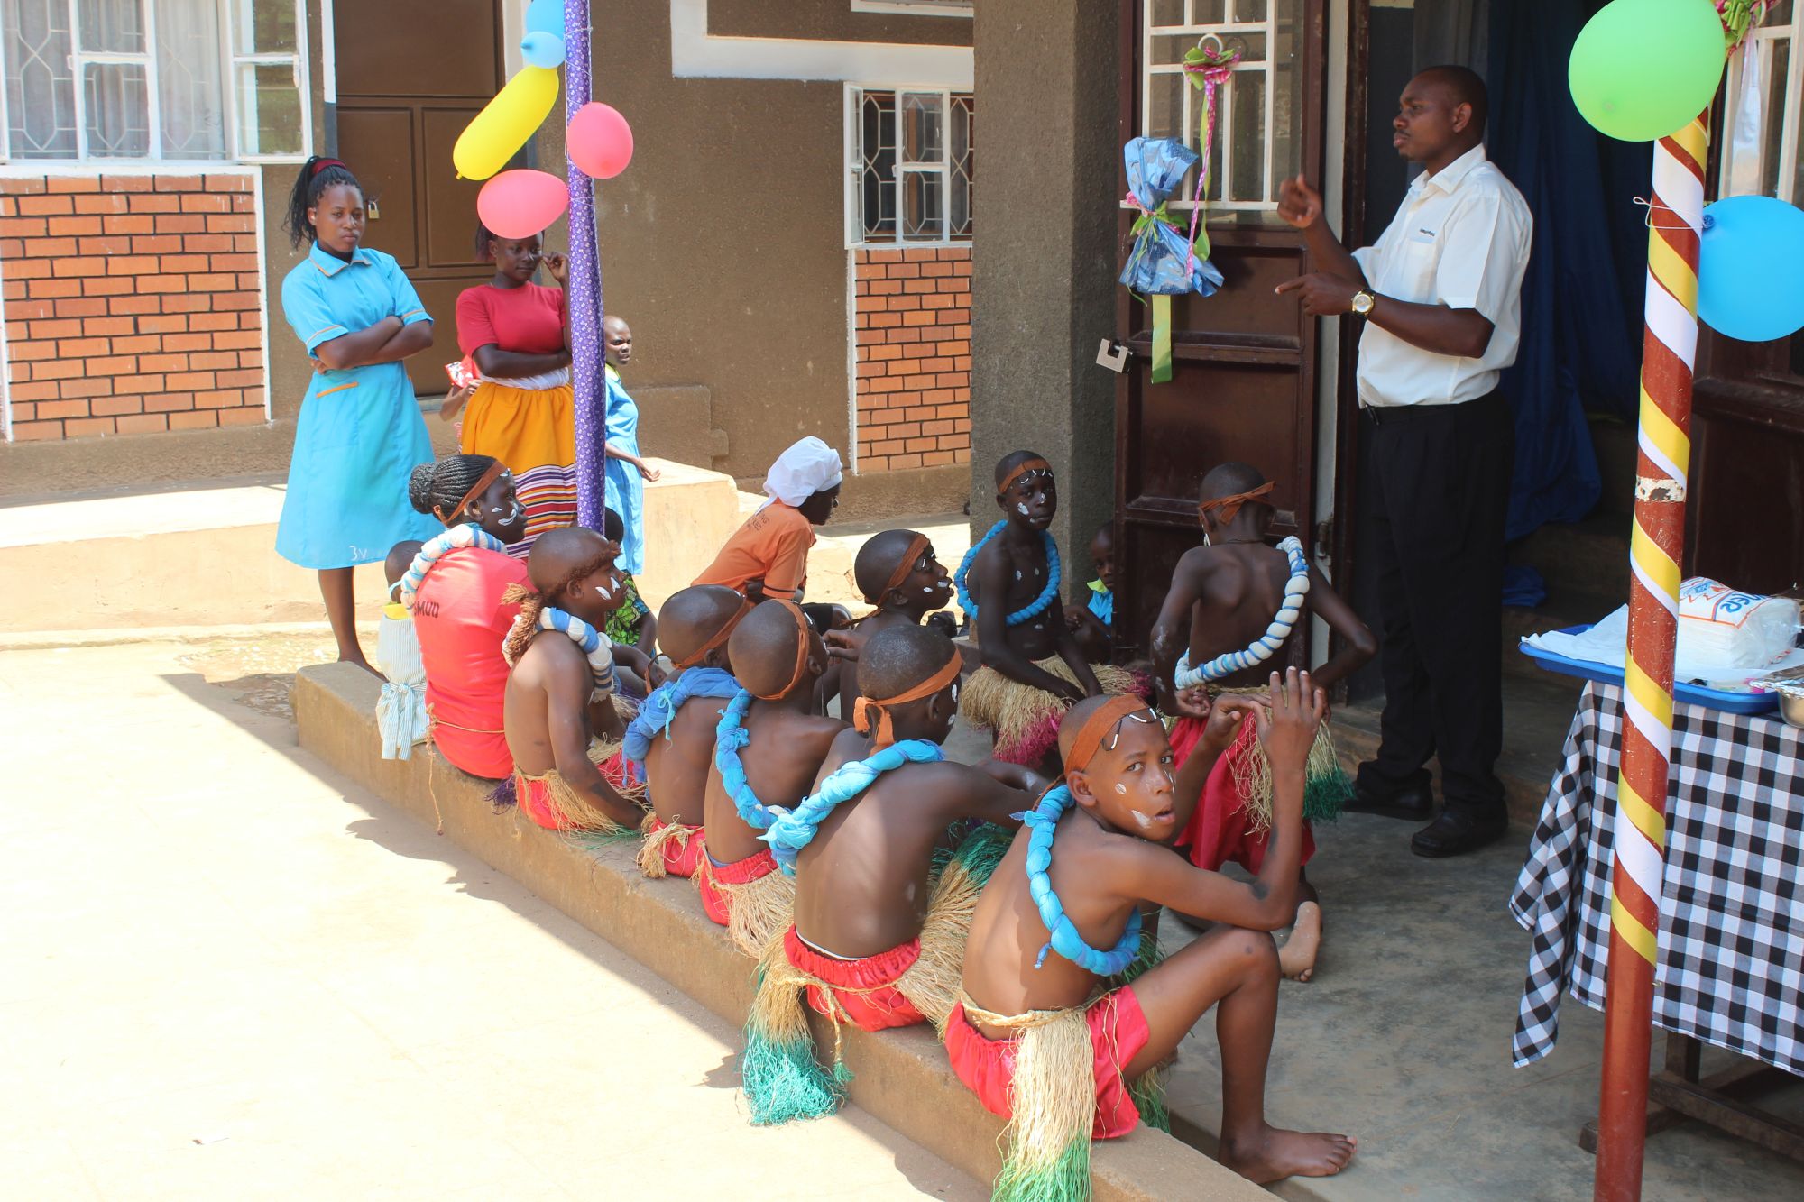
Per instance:
[[[648,877],[693,877],[702,857],[702,798],[714,762],[714,727],[740,691],[727,639],[749,608],[740,594],[718,585],[684,588],[664,603],[658,633],[673,673],[639,707],[622,745],[651,803],[639,846],[639,868]]]

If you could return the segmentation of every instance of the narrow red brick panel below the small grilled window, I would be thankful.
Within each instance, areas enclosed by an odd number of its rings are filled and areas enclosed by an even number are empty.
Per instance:
[[[859,471],[971,462],[971,247],[851,258]]]

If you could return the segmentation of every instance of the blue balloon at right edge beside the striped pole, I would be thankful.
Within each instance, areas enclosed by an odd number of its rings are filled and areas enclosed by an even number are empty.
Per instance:
[[[1777,197],[1726,197],[1707,206],[1698,316],[1746,343],[1804,328],[1804,209]]]

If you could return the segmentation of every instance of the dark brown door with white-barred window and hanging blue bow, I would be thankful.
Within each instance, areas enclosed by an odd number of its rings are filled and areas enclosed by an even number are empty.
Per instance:
[[[1117,300],[1117,330],[1135,350],[1115,399],[1115,545],[1126,563],[1115,639],[1126,657],[1146,653],[1173,567],[1201,541],[1196,493],[1216,464],[1243,460],[1265,471],[1277,485],[1275,534],[1312,541],[1315,319],[1272,289],[1308,271],[1302,236],[1275,208],[1281,179],[1304,171],[1321,186],[1324,0],[1124,4],[1122,143],[1182,135],[1198,144],[1201,92],[1180,63],[1209,32],[1241,51],[1234,78],[1218,92],[1205,209],[1210,260],[1225,283],[1210,298],[1173,300],[1169,383],[1149,379],[1147,305],[1126,289]],[[1183,195],[1192,190],[1194,175]],[[1187,220],[1187,200],[1169,208]],[[1124,254],[1131,224],[1124,209]]]

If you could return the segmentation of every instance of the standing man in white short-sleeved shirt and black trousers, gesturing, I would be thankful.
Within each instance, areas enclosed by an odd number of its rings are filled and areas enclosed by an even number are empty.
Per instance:
[[[1533,218],[1485,157],[1485,81],[1431,67],[1404,88],[1398,153],[1423,173],[1376,245],[1348,251],[1299,175],[1277,211],[1321,269],[1279,285],[1312,316],[1358,314],[1360,437],[1369,449],[1384,722],[1348,809],[1427,819],[1418,855],[1503,836],[1503,529],[1515,430],[1497,375],[1515,361]]]

